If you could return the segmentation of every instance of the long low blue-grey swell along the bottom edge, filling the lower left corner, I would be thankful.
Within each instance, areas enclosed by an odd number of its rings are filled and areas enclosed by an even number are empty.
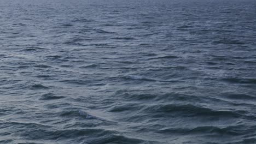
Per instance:
[[[144,140],[134,139],[120,135],[118,131],[107,130],[101,128],[80,128],[80,129],[56,129],[50,125],[42,125],[36,123],[17,123],[5,122],[4,125],[18,126],[18,129],[11,130],[16,136],[23,137],[27,141],[55,140],[57,142],[72,142],[72,143],[141,143]],[[6,134],[5,134],[6,135]],[[9,134],[8,134],[9,135]],[[13,136],[10,136],[10,138]],[[90,137],[95,137],[91,139]],[[3,140],[1,142],[15,142],[15,139]]]

